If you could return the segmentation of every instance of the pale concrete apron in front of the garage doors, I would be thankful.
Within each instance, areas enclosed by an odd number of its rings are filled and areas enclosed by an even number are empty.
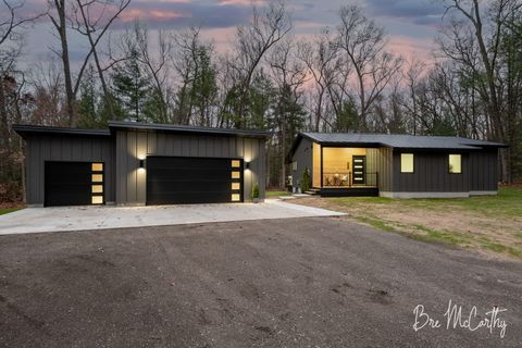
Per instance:
[[[0,235],[344,215],[279,200],[159,207],[27,208],[0,215]]]

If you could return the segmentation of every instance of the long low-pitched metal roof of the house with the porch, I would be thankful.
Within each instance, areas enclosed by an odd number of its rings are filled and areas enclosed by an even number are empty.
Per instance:
[[[393,135],[393,134],[362,134],[362,133],[300,133],[297,142],[301,137],[308,138],[321,145],[359,145],[359,146],[383,146],[403,149],[452,149],[452,150],[476,150],[487,147],[506,147],[504,144],[486,140],[476,140],[462,137],[448,136],[415,136],[415,135]]]

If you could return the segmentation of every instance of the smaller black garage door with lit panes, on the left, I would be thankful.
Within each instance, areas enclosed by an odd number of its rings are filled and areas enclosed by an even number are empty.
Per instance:
[[[45,206],[103,204],[103,163],[46,162]]]

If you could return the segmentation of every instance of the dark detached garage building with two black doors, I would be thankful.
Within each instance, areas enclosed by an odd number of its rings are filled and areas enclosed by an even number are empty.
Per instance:
[[[29,207],[244,202],[264,198],[259,130],[110,122],[108,129],[14,125]]]

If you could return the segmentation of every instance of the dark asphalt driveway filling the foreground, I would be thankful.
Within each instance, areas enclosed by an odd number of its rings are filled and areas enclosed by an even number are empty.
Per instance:
[[[0,236],[2,347],[520,347],[521,297],[520,262],[344,217]]]

